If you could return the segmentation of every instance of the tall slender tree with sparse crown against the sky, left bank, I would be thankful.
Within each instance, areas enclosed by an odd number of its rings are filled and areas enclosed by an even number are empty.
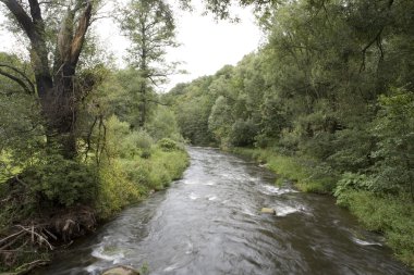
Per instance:
[[[130,38],[130,64],[138,73],[139,126],[144,127],[148,105],[154,100],[154,87],[166,82],[173,66],[165,62],[166,49],[176,47],[172,11],[163,0],[132,0],[122,8],[125,16],[120,21],[122,32]]]

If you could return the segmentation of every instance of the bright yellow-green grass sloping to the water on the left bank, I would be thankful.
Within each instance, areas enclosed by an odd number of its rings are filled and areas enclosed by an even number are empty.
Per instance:
[[[109,218],[123,208],[167,188],[188,165],[183,150],[163,151],[154,146],[148,158],[115,158],[100,168],[100,187],[95,202],[99,218]]]

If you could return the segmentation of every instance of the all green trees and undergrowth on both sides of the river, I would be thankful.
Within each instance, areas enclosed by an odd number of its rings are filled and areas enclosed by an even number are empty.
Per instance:
[[[204,1],[220,18],[230,2]],[[168,186],[187,165],[184,139],[334,195],[414,266],[414,2],[238,2],[255,7],[266,42],[160,96],[176,72],[166,1],[114,8],[131,40],[119,70],[90,28],[102,1],[0,0],[28,48],[0,53],[1,271],[45,264],[54,246]]]

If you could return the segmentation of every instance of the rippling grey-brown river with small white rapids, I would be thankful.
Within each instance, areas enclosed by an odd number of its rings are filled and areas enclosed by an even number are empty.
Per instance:
[[[123,211],[39,274],[414,274],[325,196],[276,187],[264,167],[190,148],[183,179]],[[260,214],[273,208],[276,215]]]

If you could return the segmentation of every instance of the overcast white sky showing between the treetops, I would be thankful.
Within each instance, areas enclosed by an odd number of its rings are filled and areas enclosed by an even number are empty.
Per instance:
[[[170,83],[161,90],[169,90],[178,83],[214,74],[226,64],[234,65],[245,54],[256,50],[261,40],[263,35],[249,10],[234,10],[241,18],[240,23],[216,22],[211,14],[200,15],[199,0],[193,2],[197,8],[193,12],[175,9],[176,41],[181,46],[170,50],[167,57],[170,61],[183,62],[179,68],[187,71],[188,74],[170,76]],[[0,26],[3,21],[0,14]],[[127,40],[120,36],[120,32],[109,20],[102,20],[98,24],[97,30],[102,45],[114,53],[118,64],[122,66]],[[0,51],[19,51],[19,43],[3,28],[0,28]]]

